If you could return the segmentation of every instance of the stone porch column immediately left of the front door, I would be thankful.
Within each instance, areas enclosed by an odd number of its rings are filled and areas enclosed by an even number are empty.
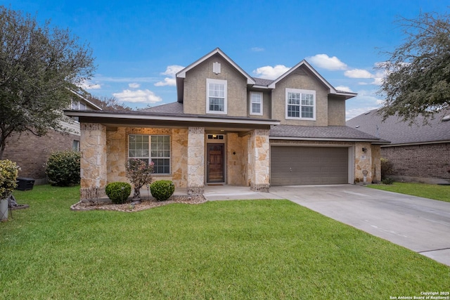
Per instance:
[[[205,128],[188,129],[188,195],[205,192]]]

